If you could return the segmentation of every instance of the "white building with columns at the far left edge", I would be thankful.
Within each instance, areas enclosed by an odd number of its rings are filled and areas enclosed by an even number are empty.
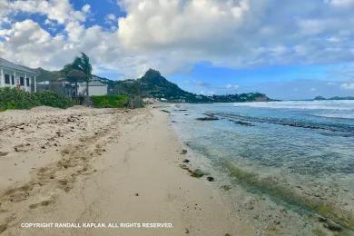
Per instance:
[[[17,87],[36,92],[36,74],[31,68],[13,64],[0,57],[0,87]]]

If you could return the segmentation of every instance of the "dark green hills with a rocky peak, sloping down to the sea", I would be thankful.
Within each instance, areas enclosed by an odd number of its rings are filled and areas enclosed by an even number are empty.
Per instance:
[[[55,81],[59,79],[58,72],[37,69],[39,76],[37,81]],[[156,98],[174,103],[244,103],[244,102],[270,102],[274,101],[263,93],[241,93],[226,95],[211,95],[190,93],[182,90],[177,84],[173,84],[163,77],[160,72],[149,69],[141,78],[121,81],[113,81],[97,75],[93,76],[108,85],[108,94],[133,94],[143,98]]]

